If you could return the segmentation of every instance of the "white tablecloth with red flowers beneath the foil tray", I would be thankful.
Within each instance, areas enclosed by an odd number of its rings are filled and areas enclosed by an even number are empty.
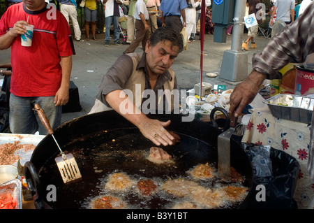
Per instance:
[[[299,208],[312,209],[314,185],[307,171],[310,132],[311,124],[276,118],[268,107],[263,107],[253,112],[242,142],[270,145],[296,158],[300,171],[293,198]]]

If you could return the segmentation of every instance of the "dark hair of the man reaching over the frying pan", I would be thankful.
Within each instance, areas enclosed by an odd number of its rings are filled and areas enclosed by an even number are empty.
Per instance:
[[[184,48],[182,35],[178,34],[171,27],[160,27],[149,38],[151,45],[156,45],[161,41],[170,41],[172,47],[179,46],[179,52],[182,52]]]

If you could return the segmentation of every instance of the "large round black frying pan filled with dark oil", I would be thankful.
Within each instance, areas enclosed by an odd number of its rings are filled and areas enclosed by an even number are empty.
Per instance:
[[[25,164],[25,175],[36,208],[87,208],[97,196],[108,174],[123,171],[135,178],[178,178],[197,164],[217,162],[217,137],[221,133],[215,122],[193,120],[182,122],[181,115],[148,115],[160,121],[171,120],[167,130],[181,137],[180,143],[164,148],[175,157],[174,166],[152,165],[143,154],[154,146],[140,131],[114,110],[85,115],[61,125],[54,137],[63,151],[72,152],[80,167],[82,179],[64,184],[54,157],[58,154],[52,137],[47,135]],[[228,124],[222,124],[227,129]],[[251,189],[252,167],[236,141],[231,141],[231,166],[244,175],[244,185]],[[48,185],[57,187],[57,201],[47,201]],[[249,195],[248,195],[249,196]],[[247,197],[248,199],[248,197]],[[137,199],[138,200],[138,199]],[[166,199],[154,198],[149,208],[161,208]],[[135,208],[143,208],[136,206]],[[240,203],[234,208],[245,207]]]

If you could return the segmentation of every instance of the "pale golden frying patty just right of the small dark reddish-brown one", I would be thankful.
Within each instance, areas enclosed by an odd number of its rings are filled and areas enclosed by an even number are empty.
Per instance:
[[[191,192],[197,189],[197,187],[200,187],[197,182],[178,178],[174,180],[167,180],[163,184],[162,189],[165,190],[165,192],[167,192],[168,194],[184,197],[189,196]]]

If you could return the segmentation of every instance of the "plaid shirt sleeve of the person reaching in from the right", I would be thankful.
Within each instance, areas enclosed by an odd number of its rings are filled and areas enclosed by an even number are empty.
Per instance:
[[[268,79],[281,78],[280,71],[290,62],[302,63],[314,52],[314,3],[295,22],[274,36],[259,54],[253,55],[253,69]]]

